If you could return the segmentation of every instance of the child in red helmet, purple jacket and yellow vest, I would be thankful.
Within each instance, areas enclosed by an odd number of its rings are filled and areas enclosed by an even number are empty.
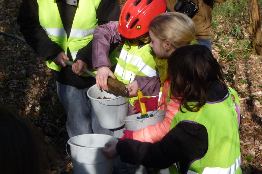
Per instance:
[[[108,90],[108,76],[117,78],[126,85],[132,82],[137,75],[156,77],[155,54],[149,45],[148,26],[154,16],[166,12],[166,9],[165,0],[127,0],[118,22],[109,22],[96,27],[93,35],[92,61],[93,68],[97,70],[96,84],[99,89],[102,87]],[[113,45],[119,43],[124,45],[113,73],[110,70],[108,54],[110,46],[112,49]],[[155,94],[149,93],[156,95],[159,89]],[[136,99],[137,97],[132,97],[130,104],[133,104]],[[131,112],[129,113],[132,114],[130,104]],[[94,133],[113,134],[108,129],[101,128],[94,114],[92,114],[92,128]],[[123,135],[123,129],[118,131],[121,135],[117,136],[114,133],[114,136],[120,138]],[[146,173],[144,167],[130,165],[127,164],[127,170],[117,167],[122,173]]]

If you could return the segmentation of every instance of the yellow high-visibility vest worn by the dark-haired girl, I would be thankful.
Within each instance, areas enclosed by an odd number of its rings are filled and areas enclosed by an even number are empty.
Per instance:
[[[195,102],[190,103],[195,104]],[[207,153],[194,159],[186,173],[242,173],[238,133],[239,106],[238,94],[234,89],[229,88],[227,97],[221,101],[207,102],[198,112],[189,112],[184,107],[182,110],[186,113],[178,111],[171,121],[170,129],[182,122],[190,122],[204,125],[208,134]],[[170,166],[170,173],[179,173],[178,167],[179,163],[178,166]]]

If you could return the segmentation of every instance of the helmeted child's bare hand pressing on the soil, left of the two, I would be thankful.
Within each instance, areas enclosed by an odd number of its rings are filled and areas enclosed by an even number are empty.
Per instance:
[[[108,76],[110,76],[110,77],[112,77],[114,79],[116,78],[116,76],[109,69],[108,66],[104,66],[104,67],[101,67],[101,68],[97,69],[96,85],[97,85],[99,90],[100,90],[100,86],[101,86],[104,90],[108,91],[108,86],[107,86]]]

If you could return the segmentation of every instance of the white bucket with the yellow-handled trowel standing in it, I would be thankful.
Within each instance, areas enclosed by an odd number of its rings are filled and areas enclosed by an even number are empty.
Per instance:
[[[137,113],[134,115],[130,115],[125,117],[123,120],[125,121],[125,127],[127,130],[136,131],[142,128],[145,128],[149,125],[155,125],[159,121],[163,121],[165,118],[166,111],[158,110],[158,111],[149,111],[147,114],[153,114],[153,117],[147,117],[142,119],[137,119],[137,117],[141,116],[141,113]]]

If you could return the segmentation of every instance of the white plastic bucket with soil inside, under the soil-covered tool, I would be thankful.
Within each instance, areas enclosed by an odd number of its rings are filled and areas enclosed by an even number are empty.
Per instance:
[[[123,118],[128,114],[128,100],[126,97],[116,97],[102,89],[100,91],[97,85],[93,85],[87,91],[97,120],[100,125],[106,129],[115,129],[123,126]],[[110,98],[110,99],[97,99]]]

